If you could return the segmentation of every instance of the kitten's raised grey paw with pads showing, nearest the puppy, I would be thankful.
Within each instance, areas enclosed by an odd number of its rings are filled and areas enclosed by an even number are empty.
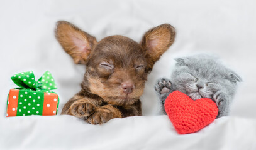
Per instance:
[[[161,78],[155,85],[155,91],[157,91],[160,95],[169,93],[171,90],[172,83],[169,79]]]

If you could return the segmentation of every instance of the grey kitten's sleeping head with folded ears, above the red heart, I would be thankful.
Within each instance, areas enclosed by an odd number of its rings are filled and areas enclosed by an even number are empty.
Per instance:
[[[196,56],[176,60],[177,66],[172,73],[175,89],[194,100],[213,99],[219,90],[233,97],[236,81],[240,78],[213,58]]]

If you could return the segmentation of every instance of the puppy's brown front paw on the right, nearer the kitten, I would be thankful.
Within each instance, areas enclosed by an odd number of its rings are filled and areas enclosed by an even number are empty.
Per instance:
[[[94,114],[89,116],[87,121],[91,124],[103,124],[113,118],[113,113],[108,109],[97,109]]]

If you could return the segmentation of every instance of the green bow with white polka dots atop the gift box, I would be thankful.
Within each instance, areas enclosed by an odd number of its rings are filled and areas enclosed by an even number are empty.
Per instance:
[[[11,77],[13,82],[21,89],[43,90],[50,91],[57,89],[52,74],[46,71],[38,81],[35,81],[35,75],[33,71],[23,72],[15,74]]]

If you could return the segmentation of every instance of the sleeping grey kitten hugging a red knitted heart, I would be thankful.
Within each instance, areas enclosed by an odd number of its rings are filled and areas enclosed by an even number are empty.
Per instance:
[[[193,100],[213,99],[218,106],[217,118],[227,116],[237,82],[242,79],[216,58],[206,54],[177,58],[175,61],[177,63],[170,80],[161,78],[155,85],[163,113],[165,99],[170,93],[178,90]]]

